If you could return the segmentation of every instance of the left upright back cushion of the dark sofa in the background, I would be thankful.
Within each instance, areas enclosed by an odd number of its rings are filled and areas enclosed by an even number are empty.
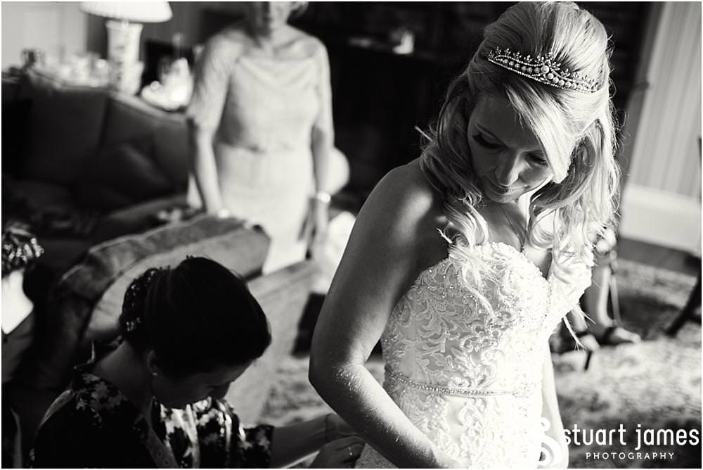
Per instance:
[[[98,148],[108,92],[60,84],[30,71],[21,95],[32,100],[22,175],[69,184]]]

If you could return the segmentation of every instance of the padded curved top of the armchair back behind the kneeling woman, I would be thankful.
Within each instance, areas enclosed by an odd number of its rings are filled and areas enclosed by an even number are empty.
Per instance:
[[[263,231],[247,228],[240,220],[204,214],[93,246],[54,286],[46,332],[37,338],[35,361],[22,367],[23,383],[34,388],[64,386],[91,341],[116,336],[124,291],[148,267],[203,255],[248,279],[261,271],[268,248]]]

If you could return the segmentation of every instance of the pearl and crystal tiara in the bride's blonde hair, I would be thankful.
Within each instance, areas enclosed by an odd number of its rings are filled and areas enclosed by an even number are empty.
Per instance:
[[[569,72],[568,68],[562,68],[561,63],[554,61],[552,53],[548,53],[546,56],[532,57],[497,47],[489,51],[488,61],[523,77],[560,89],[583,91],[584,93],[598,91],[598,84],[593,78],[579,72]]]

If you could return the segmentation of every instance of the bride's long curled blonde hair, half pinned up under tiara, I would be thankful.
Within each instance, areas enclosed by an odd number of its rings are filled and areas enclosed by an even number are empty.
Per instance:
[[[497,48],[532,57],[551,52],[562,68],[595,79],[598,91],[560,89],[518,75],[487,60]],[[482,96],[497,96],[508,99],[522,125],[537,136],[554,174],[531,196],[530,243],[552,248],[557,267],[573,257],[593,264],[588,231],[614,225],[619,197],[609,59],[602,23],[573,3],[517,4],[485,28],[469,65],[447,91],[420,160],[427,179],[444,196],[445,215],[458,232],[450,251],[479,262],[466,248],[488,239],[486,222],[476,209],[482,191],[472,169],[467,123]],[[540,223],[546,221],[551,223]],[[469,286],[477,286],[478,279],[473,281]]]

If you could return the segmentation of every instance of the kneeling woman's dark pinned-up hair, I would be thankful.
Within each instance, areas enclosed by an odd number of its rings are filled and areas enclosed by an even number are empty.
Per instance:
[[[271,344],[266,315],[244,281],[207,258],[134,279],[120,330],[136,350],[153,349],[159,367],[174,376],[247,364]]]

